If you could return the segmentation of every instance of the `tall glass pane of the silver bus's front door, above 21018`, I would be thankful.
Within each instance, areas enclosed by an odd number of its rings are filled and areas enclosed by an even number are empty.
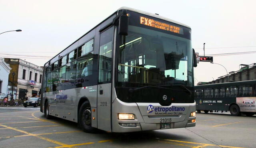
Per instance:
[[[113,27],[100,34],[99,84],[111,83],[113,34]]]

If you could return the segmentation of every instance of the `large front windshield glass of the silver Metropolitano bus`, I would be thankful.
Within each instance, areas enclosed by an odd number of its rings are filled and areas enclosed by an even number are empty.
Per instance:
[[[118,54],[117,87],[184,85],[192,87],[191,40],[129,26]]]

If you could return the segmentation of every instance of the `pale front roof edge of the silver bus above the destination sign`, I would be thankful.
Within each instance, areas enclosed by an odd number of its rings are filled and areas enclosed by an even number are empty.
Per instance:
[[[168,21],[168,22],[172,22],[172,23],[175,23],[175,24],[178,24],[178,25],[181,25],[181,26],[190,28],[190,26],[188,26],[188,25],[182,24],[182,23],[177,22],[177,21],[175,21],[175,20],[171,20],[170,18],[165,18],[165,17],[163,17],[163,16],[159,16],[159,15],[157,15],[157,14],[152,14],[152,13],[149,13],[149,12],[145,12],[145,11],[142,11],[142,10],[137,10],[137,9],[129,8],[129,7],[121,7],[121,8],[119,8],[118,10],[122,10],[122,9],[130,10],[130,11],[133,11],[133,12],[138,12],[138,13],[141,13],[141,14],[145,14],[145,15],[148,15],[148,16],[152,16],[152,17],[154,17],[154,18],[159,18],[159,19],[162,19],[162,20],[166,20],[166,21]],[[191,29],[191,28],[190,28],[190,29]]]

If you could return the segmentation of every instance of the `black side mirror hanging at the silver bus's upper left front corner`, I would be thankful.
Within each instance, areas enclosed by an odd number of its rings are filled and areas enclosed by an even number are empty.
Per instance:
[[[128,35],[128,21],[129,17],[127,16],[127,11],[123,10],[121,16],[119,17],[119,35]]]

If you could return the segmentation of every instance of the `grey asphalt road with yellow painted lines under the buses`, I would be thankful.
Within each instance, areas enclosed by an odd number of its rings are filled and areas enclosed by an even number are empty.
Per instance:
[[[0,107],[0,148],[256,148],[255,115],[231,116],[228,112],[218,112],[196,116],[196,127],[191,128],[90,134],[82,132],[74,122],[47,120],[34,108]]]

